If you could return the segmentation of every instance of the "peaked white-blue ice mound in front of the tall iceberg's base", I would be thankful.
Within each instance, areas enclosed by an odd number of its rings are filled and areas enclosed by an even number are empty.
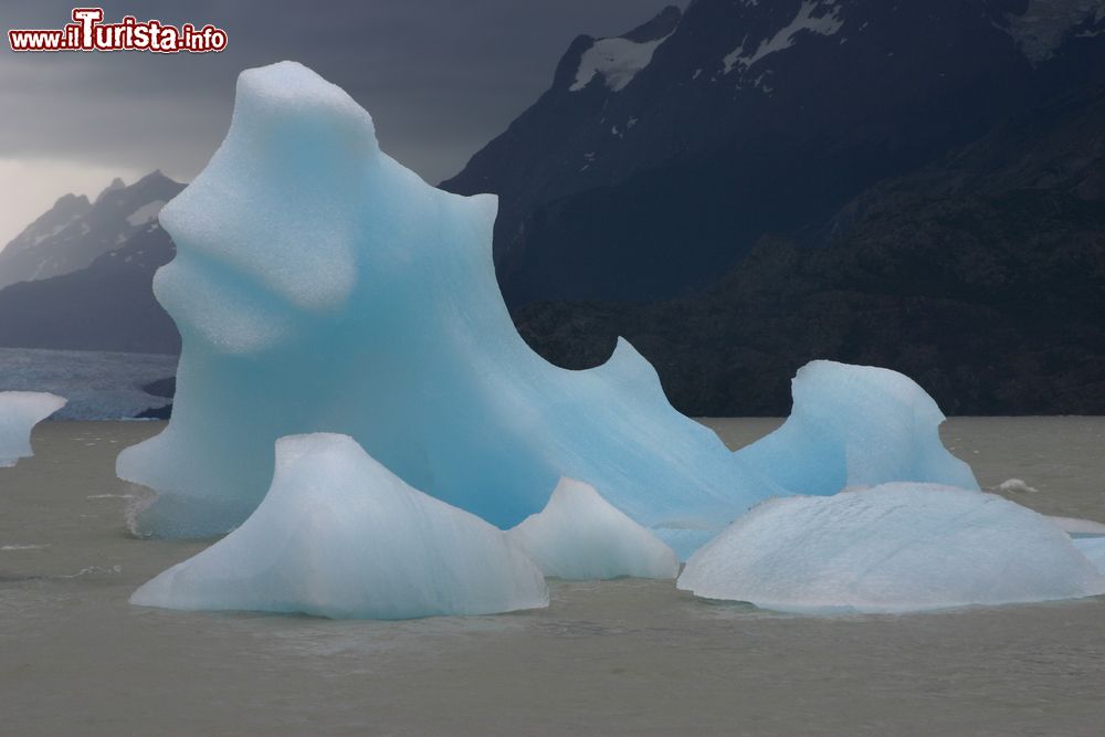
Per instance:
[[[411,488],[351,438],[317,433],[277,441],[253,515],[130,601],[412,619],[546,607],[548,590],[502,530]]]

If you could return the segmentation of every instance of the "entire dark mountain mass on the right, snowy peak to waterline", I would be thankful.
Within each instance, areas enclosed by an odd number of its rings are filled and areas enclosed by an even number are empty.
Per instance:
[[[580,36],[443,187],[495,192],[523,336],[694,414],[811,358],[953,413],[1105,412],[1105,0],[696,0]]]

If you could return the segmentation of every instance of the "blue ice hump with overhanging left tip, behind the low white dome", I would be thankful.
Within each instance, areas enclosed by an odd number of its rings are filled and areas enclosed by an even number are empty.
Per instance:
[[[792,493],[915,481],[978,488],[940,442],[944,414],[912,379],[872,366],[812,361],[792,383],[781,428],[738,455]]]

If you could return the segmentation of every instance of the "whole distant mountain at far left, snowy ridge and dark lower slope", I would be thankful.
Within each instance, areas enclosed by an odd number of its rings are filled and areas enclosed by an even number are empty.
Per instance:
[[[3,267],[2,256],[15,245],[7,265],[32,277],[0,288],[0,346],[180,350],[176,325],[151,284],[176,253],[157,211],[183,186],[159,171],[130,187],[116,182],[93,204],[63,197],[0,252]],[[74,264],[84,265],[70,270]],[[60,270],[65,273],[45,276]],[[0,277],[11,274],[0,271]]]

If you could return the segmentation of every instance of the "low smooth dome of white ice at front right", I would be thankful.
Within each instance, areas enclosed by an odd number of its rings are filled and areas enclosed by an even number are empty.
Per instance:
[[[678,588],[780,611],[909,612],[1096,596],[1105,577],[1043,515],[897,483],[766,502],[699,548]]]

